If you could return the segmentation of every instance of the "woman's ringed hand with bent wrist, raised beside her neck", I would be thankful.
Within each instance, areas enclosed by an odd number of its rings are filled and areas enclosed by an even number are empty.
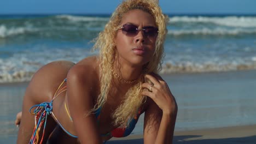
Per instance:
[[[152,98],[163,113],[176,115],[177,103],[167,83],[156,74],[148,74],[145,77],[149,79],[153,85],[148,82],[143,83],[142,87],[147,88],[149,91],[143,91],[142,94]]]

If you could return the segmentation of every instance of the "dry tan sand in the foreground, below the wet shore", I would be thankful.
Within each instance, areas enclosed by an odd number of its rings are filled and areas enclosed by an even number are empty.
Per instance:
[[[113,139],[107,143],[143,143],[142,135],[131,135],[125,138]],[[234,144],[255,143],[256,125],[224,127],[203,130],[175,131],[173,143],[176,144]]]

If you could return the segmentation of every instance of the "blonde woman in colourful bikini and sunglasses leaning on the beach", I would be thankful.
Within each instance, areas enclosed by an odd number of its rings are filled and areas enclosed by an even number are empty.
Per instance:
[[[124,1],[98,35],[98,56],[40,68],[24,96],[18,143],[102,143],[129,135],[143,112],[144,143],[171,143],[177,104],[157,75],[166,22],[154,1]]]

